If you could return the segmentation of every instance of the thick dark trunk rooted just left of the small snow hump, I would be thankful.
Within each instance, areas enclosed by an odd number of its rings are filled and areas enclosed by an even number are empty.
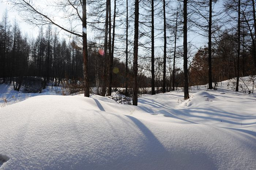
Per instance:
[[[183,1],[183,69],[184,69],[184,99],[189,99],[188,93],[188,44],[187,44],[187,0]]]

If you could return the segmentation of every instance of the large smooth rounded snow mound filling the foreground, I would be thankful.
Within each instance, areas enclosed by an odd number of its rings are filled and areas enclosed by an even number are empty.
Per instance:
[[[0,170],[255,169],[255,132],[173,123],[148,109],[53,95],[3,107],[0,154],[10,159]]]

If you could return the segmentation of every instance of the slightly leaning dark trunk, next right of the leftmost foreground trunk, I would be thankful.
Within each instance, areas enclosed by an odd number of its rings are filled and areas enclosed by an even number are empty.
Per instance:
[[[105,38],[104,38],[104,58],[103,58],[103,63],[104,63],[104,68],[103,68],[103,78],[102,78],[102,90],[101,90],[101,95],[105,96],[106,95],[106,76],[107,76],[107,51],[108,51],[108,14],[109,14],[109,0],[106,0],[106,20],[105,20]]]

